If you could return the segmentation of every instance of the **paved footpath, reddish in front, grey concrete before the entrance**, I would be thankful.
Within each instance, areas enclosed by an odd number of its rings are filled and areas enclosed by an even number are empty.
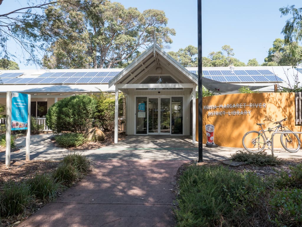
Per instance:
[[[31,160],[61,160],[69,153],[54,146],[52,136],[31,136]],[[11,153],[11,160],[25,160],[25,138],[16,144],[21,149]],[[238,150],[243,149],[204,146],[203,160],[227,159]],[[183,163],[198,160],[198,143],[186,137],[127,136],[118,144],[80,153],[92,160],[94,171],[19,226],[175,225],[174,176]],[[301,150],[277,149],[274,155],[302,158]],[[0,160],[5,160],[5,152],[0,153]]]

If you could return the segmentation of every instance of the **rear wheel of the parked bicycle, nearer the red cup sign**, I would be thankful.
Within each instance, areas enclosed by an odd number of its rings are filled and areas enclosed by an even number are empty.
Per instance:
[[[247,151],[257,153],[264,149],[266,140],[258,131],[249,131],[244,134],[242,144]]]

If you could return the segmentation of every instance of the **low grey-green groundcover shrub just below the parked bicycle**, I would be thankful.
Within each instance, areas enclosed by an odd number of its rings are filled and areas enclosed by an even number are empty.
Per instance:
[[[265,151],[259,153],[250,153],[248,151],[240,150],[231,154],[231,160],[237,162],[244,162],[246,164],[255,164],[258,166],[275,166],[282,163],[276,156],[269,155]]]

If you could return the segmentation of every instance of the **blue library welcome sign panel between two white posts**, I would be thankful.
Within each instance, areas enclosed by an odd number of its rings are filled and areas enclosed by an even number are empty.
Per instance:
[[[24,130],[28,126],[28,95],[11,93],[11,130]]]

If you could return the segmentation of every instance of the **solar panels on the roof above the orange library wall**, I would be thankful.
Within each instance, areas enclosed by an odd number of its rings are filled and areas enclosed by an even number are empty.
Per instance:
[[[198,74],[198,71],[190,71]],[[283,81],[269,70],[204,70],[203,77],[220,82],[280,82]]]

